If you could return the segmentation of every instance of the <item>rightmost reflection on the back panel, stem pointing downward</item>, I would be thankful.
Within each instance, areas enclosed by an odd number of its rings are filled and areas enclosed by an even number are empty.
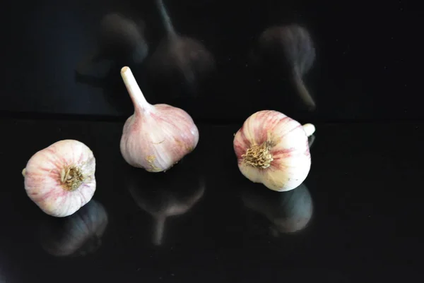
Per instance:
[[[278,65],[281,76],[288,76],[293,81],[303,103],[308,109],[314,110],[314,99],[302,79],[315,59],[310,33],[295,24],[267,28],[259,37],[257,51],[264,64]]]

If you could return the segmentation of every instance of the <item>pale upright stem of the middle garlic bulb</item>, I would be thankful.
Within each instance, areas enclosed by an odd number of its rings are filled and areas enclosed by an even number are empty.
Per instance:
[[[141,92],[139,84],[134,78],[133,73],[129,67],[124,67],[121,69],[121,76],[124,80],[126,90],[128,90],[129,96],[134,104],[134,110],[136,113],[142,114],[143,112],[150,112],[153,109],[153,106],[149,104],[146,98]]]

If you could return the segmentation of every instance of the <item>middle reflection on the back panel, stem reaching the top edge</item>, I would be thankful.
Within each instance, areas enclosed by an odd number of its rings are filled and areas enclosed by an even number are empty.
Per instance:
[[[149,75],[160,84],[163,84],[163,79],[167,83],[183,82],[189,91],[195,92],[199,83],[215,68],[213,55],[198,40],[181,36],[175,31],[163,0],[155,0],[155,4],[166,35],[148,64]]]

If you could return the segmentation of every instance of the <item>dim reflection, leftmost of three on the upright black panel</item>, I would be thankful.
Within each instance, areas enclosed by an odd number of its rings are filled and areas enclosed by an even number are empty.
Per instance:
[[[120,13],[108,13],[100,21],[98,47],[81,61],[76,73],[90,73],[93,65],[102,60],[118,61],[119,65],[141,64],[148,55],[144,23]]]

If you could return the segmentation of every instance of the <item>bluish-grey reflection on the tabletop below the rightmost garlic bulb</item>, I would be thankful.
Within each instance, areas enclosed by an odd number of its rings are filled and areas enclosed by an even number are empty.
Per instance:
[[[246,207],[261,213],[273,223],[271,231],[274,236],[305,229],[312,217],[312,197],[304,184],[278,194],[253,188],[244,190],[242,200]]]

